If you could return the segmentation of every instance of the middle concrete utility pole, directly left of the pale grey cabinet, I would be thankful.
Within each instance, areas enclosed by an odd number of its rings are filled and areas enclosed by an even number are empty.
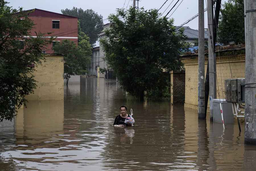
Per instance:
[[[208,14],[208,58],[209,58],[209,103],[210,103],[210,121],[213,120],[213,103],[216,99],[216,57],[213,54],[213,6],[212,0],[207,0]],[[222,84],[222,83],[221,83]],[[206,106],[207,107],[207,106]]]

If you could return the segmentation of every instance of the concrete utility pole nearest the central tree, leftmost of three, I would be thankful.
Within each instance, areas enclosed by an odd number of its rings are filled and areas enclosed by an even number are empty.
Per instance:
[[[205,25],[204,0],[198,1],[198,118],[205,119]]]

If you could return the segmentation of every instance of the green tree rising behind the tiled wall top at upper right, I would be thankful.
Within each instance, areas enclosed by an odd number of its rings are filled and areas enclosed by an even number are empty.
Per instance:
[[[245,42],[244,30],[244,3],[243,0],[228,0],[220,10],[218,26],[218,40],[228,44],[234,41],[236,44]]]

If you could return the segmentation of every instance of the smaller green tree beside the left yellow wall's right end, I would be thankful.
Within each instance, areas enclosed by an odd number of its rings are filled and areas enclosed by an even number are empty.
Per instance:
[[[64,56],[64,79],[67,86],[72,75],[79,75],[82,70],[86,70],[92,54],[92,47],[88,40],[88,36],[84,35],[78,46],[73,41],[63,40],[53,47],[56,53]]]

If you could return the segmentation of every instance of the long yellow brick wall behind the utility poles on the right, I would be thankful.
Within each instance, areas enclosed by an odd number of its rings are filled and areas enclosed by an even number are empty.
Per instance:
[[[185,107],[197,109],[198,105],[198,58],[185,56]],[[232,77],[231,72],[232,71]],[[207,58],[205,59],[205,75]],[[245,55],[216,57],[217,98],[225,98],[224,81],[230,78],[245,78]],[[219,96],[220,95],[220,96]],[[209,101],[208,101],[209,102]],[[209,107],[209,103],[208,103]]]

